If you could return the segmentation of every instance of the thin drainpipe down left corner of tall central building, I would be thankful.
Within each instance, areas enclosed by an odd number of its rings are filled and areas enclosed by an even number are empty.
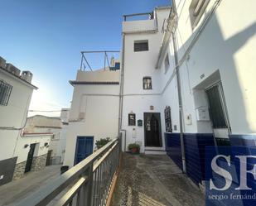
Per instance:
[[[125,34],[123,33],[122,65],[121,65],[120,92],[119,92],[118,134],[120,134],[122,129],[122,117],[123,117],[124,44],[125,44]],[[125,143],[126,142],[124,142],[124,144]],[[124,150],[126,150],[126,148],[124,148]]]

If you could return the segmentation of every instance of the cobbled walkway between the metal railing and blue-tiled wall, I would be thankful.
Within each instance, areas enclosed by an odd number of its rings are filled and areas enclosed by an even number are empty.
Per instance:
[[[123,154],[112,206],[202,206],[203,194],[168,156]]]

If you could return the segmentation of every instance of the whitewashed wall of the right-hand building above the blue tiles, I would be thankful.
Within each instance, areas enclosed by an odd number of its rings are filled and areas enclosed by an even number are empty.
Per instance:
[[[215,1],[210,1],[205,14],[198,26],[192,31],[189,20],[191,1],[176,1],[178,13],[178,56],[181,60],[193,36]],[[185,124],[185,132],[212,132],[210,122],[196,121],[196,107],[207,106],[204,89],[215,81],[221,80],[225,93],[229,122],[234,134],[252,134],[256,132],[255,103],[256,63],[254,48],[256,48],[256,2],[253,0],[240,2],[221,1],[220,6],[205,30],[200,35],[196,45],[190,52],[189,59],[181,66],[181,93],[184,106],[184,116],[191,114],[192,124]],[[172,44],[170,43],[172,47]],[[173,66],[173,52],[171,65]],[[171,67],[172,67],[171,66]],[[164,74],[162,66],[162,88],[170,78],[171,69]],[[220,73],[220,75],[218,75]],[[176,79],[172,79],[175,84]],[[170,84],[170,85],[171,85]],[[176,93],[172,88],[170,93]],[[178,122],[178,105],[176,98],[166,92],[163,97],[167,102],[175,104],[171,107],[172,122]],[[174,124],[174,123],[173,123]]]

